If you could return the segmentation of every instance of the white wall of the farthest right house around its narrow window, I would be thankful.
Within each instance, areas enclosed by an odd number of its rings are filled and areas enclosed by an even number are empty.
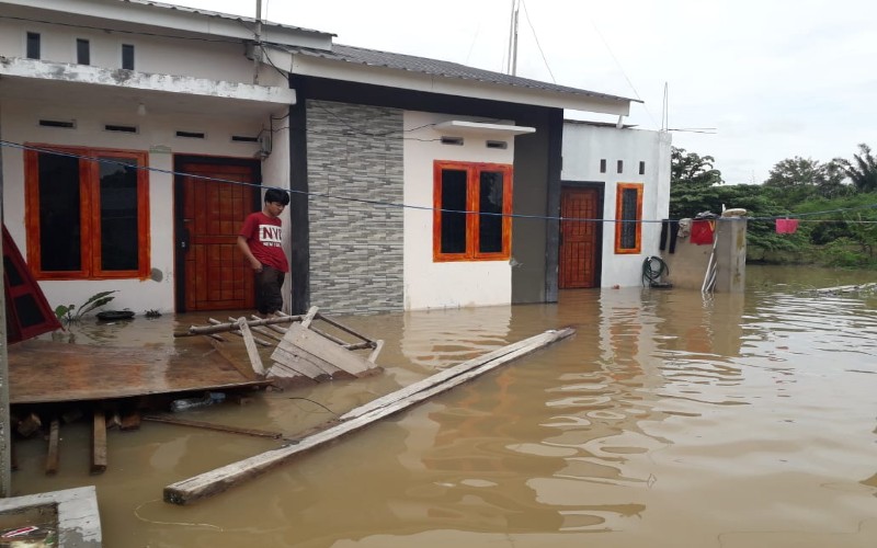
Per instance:
[[[596,126],[567,121],[563,124],[563,181],[601,182],[605,184],[603,218],[615,219],[616,185],[642,183],[642,247],[640,254],[615,254],[615,224],[603,225],[603,287],[639,286],[642,261],[659,254],[660,220],[670,212],[670,145],[668,133],[643,129]],[[600,172],[600,160],[606,160],[606,173]],[[617,172],[617,161],[624,172]],[[639,174],[639,162],[646,162],[646,174]]]

